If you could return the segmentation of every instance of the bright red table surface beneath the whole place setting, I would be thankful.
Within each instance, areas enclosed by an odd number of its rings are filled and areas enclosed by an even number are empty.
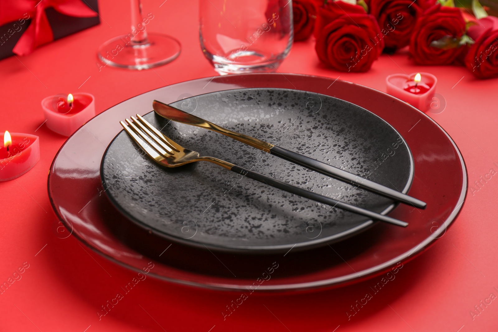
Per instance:
[[[58,93],[88,92],[102,112],[152,89],[216,75],[199,46],[198,2],[163,1],[144,0],[143,11],[154,15],[147,25],[149,31],[166,32],[182,44],[180,57],[166,66],[139,72],[99,69],[99,45],[129,30],[128,3],[117,0],[100,1],[99,26],[43,46],[29,56],[0,61],[0,131],[39,135],[41,148],[41,159],[32,170],[15,181],[0,183],[0,282],[6,282],[23,264],[29,266],[0,295],[0,331],[498,330],[498,300],[490,298],[491,293],[498,296],[498,176],[481,181],[491,169],[498,171],[498,114],[493,105],[498,80],[476,80],[463,67],[414,66],[406,53],[382,55],[368,73],[339,73],[319,64],[311,40],[296,43],[279,71],[339,77],[380,91],[385,91],[389,74],[430,72],[437,76],[437,93],[447,106],[429,115],[460,147],[469,186],[475,188],[469,191],[454,225],[427,252],[405,264],[349,320],[351,306],[371,292],[381,277],[313,293],[253,293],[225,320],[222,311],[240,294],[149,277],[99,320],[101,306],[136,274],[94,253],[73,236],[56,236],[59,224],[49,204],[46,181],[65,137],[42,125],[40,101]],[[475,181],[481,181],[480,187]]]

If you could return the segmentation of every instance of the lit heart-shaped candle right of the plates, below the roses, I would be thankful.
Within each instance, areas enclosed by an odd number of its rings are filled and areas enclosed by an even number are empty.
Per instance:
[[[436,92],[437,78],[429,73],[392,74],[385,83],[389,95],[425,112]]]

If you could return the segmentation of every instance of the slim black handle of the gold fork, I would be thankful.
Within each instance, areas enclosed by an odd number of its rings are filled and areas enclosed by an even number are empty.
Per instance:
[[[250,171],[246,168],[243,168],[243,167],[240,167],[237,165],[234,165],[230,170],[233,172],[239,173],[243,176],[247,176],[248,178],[254,179],[256,181],[265,183],[269,186],[284,190],[284,191],[289,192],[291,194],[295,194],[295,195],[298,195],[298,196],[301,196],[301,197],[304,197],[304,198],[307,198],[307,199],[310,199],[310,200],[313,200],[316,202],[327,204],[327,205],[330,205],[332,207],[337,207],[339,209],[354,212],[356,214],[367,216],[367,217],[375,219],[375,220],[393,223],[393,224],[398,225],[398,226],[407,226],[408,225],[407,222],[399,221],[399,220],[391,218],[391,217],[387,217],[387,216],[380,215],[378,213],[375,213],[375,212],[372,212],[369,210],[355,207],[354,205],[350,205],[347,203],[336,201],[332,198],[322,196],[322,195],[319,195],[317,193],[313,193],[311,191],[307,191],[307,190],[299,188],[299,187],[292,186],[288,183],[270,178],[270,177],[265,176],[265,175],[261,175],[259,173]]]

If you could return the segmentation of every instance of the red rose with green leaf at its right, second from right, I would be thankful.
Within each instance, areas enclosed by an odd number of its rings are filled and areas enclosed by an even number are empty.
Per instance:
[[[465,20],[456,7],[436,4],[417,19],[410,39],[410,53],[420,65],[449,65],[465,47],[450,49],[431,46],[431,42],[448,36],[460,39],[465,33]]]

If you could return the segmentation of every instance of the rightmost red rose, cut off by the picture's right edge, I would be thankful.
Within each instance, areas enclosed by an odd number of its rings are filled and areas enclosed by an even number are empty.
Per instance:
[[[498,77],[498,17],[481,18],[467,34],[475,40],[465,57],[465,66],[481,79]]]

